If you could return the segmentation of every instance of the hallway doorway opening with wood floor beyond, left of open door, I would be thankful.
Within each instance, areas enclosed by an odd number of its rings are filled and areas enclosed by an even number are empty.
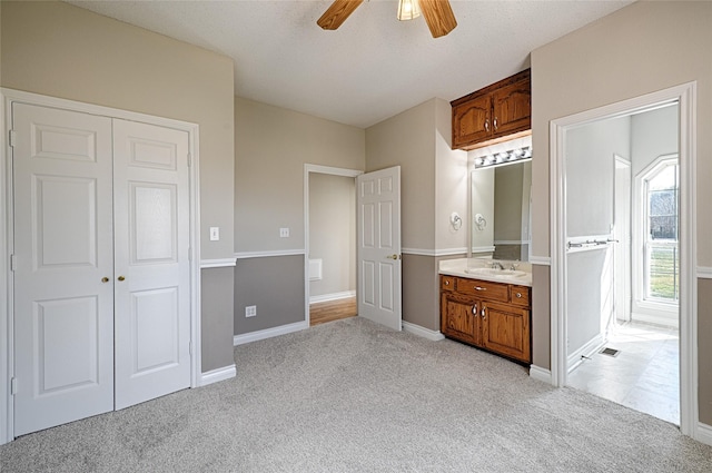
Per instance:
[[[356,176],[305,166],[305,289],[309,326],[357,315]]]

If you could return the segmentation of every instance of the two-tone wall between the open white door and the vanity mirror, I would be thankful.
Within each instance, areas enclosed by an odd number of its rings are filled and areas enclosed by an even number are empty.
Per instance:
[[[366,169],[400,166],[403,319],[439,331],[436,255],[467,245],[467,154],[449,149],[451,108],[432,99],[366,130]],[[449,215],[463,218],[459,230]]]

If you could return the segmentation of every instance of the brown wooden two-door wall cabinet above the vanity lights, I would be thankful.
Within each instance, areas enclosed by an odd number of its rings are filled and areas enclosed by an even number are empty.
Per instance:
[[[532,129],[532,79],[526,69],[451,102],[453,149],[474,149]],[[515,136],[511,136],[515,135]]]

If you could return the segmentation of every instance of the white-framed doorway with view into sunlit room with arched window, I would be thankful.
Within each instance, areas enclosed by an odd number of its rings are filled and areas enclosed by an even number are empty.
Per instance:
[[[683,85],[555,120],[551,135],[553,384],[693,437],[694,104]]]

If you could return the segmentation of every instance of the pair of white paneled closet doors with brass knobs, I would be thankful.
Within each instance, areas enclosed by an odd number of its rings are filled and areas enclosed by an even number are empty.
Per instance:
[[[188,136],[14,104],[14,435],[190,382]]]

